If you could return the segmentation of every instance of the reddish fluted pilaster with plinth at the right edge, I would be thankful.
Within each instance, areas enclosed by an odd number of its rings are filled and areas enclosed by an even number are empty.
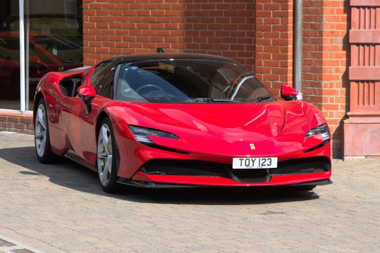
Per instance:
[[[380,155],[380,0],[350,0],[350,112],[343,157]]]

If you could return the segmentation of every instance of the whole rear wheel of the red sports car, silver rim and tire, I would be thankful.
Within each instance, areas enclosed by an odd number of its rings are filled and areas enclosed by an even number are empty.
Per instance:
[[[52,163],[57,156],[53,154],[50,146],[49,126],[44,98],[41,98],[36,107],[36,119],[34,123],[34,137],[37,159],[42,164]]]

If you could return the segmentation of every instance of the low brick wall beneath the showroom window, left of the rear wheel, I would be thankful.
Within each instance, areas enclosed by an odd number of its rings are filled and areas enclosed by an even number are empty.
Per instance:
[[[28,114],[0,113],[0,131],[33,134],[33,116]]]

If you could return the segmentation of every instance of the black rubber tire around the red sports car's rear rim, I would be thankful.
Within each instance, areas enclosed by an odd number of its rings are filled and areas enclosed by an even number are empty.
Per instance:
[[[42,152],[42,150],[40,149],[41,148],[41,144],[42,144],[42,141],[43,139],[41,138],[36,138],[37,135],[41,136],[41,130],[43,127],[41,125],[41,123],[39,122],[39,109],[40,108],[43,108],[43,111],[44,111],[44,114],[43,114],[43,120],[44,120],[44,123],[45,123],[45,136],[43,138],[45,138],[45,148]],[[49,123],[47,121],[47,110],[46,110],[46,103],[45,103],[45,100],[44,98],[41,98],[38,103],[37,103],[37,106],[36,106],[36,111],[35,111],[35,115],[36,115],[36,118],[35,118],[35,121],[34,121],[34,135],[35,135],[35,151],[36,151],[36,155],[37,155],[37,159],[38,161],[40,161],[40,163],[42,164],[51,164],[51,163],[54,163],[56,162],[59,157],[57,155],[55,155],[52,151],[51,151],[51,145],[50,145],[50,136],[49,136]],[[38,131],[39,131],[39,134],[38,134]],[[39,140],[41,141],[41,143],[39,143]]]

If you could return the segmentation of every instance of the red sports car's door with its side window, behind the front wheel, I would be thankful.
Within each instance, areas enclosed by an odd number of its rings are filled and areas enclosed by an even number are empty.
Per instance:
[[[101,107],[113,99],[114,74],[115,63],[112,61],[102,62],[95,67],[90,84],[94,86],[96,96],[89,114],[78,95],[65,96],[61,101],[63,127],[72,150],[93,165],[96,162],[96,117]]]

